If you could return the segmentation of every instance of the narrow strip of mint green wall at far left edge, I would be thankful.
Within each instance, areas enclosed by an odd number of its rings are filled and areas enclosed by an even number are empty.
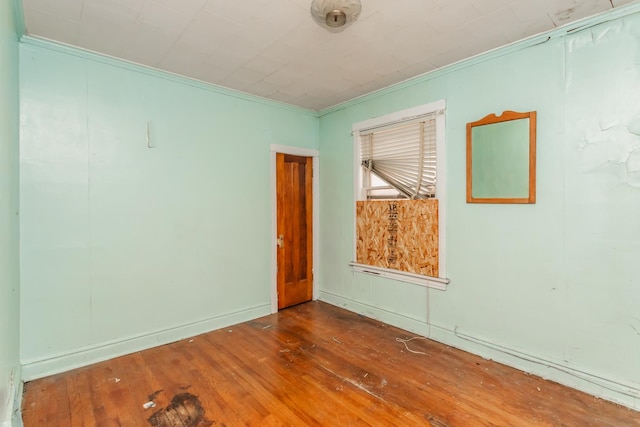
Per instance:
[[[19,381],[18,36],[13,3],[0,0],[0,425]]]

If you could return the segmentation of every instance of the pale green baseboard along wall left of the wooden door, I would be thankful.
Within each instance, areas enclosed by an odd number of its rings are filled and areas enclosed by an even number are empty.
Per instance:
[[[257,319],[258,317],[269,314],[271,314],[271,305],[263,304],[175,328],[74,349],[66,353],[53,355],[46,359],[23,361],[22,379],[24,381],[31,381],[60,372],[66,372],[71,369],[113,359],[114,357],[169,344],[237,323]]]

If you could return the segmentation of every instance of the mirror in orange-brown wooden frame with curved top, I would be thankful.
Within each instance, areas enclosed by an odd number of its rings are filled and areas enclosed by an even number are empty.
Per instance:
[[[467,123],[467,203],[536,202],[536,112]]]

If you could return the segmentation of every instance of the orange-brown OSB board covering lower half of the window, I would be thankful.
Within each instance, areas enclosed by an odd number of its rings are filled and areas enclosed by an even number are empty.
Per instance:
[[[438,277],[438,201],[356,202],[356,262]]]

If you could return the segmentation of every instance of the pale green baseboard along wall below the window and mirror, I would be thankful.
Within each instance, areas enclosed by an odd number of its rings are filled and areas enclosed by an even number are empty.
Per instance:
[[[628,408],[640,410],[640,387],[635,384],[606,378],[604,375],[587,372],[579,367],[568,366],[520,349],[498,345],[481,337],[461,333],[442,325],[428,324],[424,320],[390,312],[332,292],[321,290],[320,300],[485,359],[494,360]]]

